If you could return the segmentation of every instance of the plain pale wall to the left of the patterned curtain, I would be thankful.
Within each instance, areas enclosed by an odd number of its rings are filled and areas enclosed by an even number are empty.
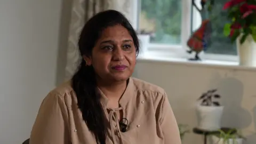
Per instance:
[[[29,137],[56,84],[60,12],[61,0],[0,1],[0,143]]]

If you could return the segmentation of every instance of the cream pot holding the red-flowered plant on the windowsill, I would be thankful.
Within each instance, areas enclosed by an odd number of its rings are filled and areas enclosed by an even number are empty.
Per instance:
[[[241,37],[239,36],[236,39],[239,65],[256,67],[256,43],[253,41],[252,36],[249,35],[245,39],[245,42],[240,44]]]

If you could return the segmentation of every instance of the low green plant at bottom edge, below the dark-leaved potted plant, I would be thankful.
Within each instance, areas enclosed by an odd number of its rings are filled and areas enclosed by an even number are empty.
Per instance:
[[[220,134],[212,136],[214,144],[242,144],[245,139],[242,134],[239,134],[236,129],[232,129],[228,132],[219,130]]]

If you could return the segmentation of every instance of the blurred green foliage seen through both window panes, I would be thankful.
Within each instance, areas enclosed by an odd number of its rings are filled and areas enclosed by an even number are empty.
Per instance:
[[[189,0],[187,0],[189,1]],[[215,0],[212,7],[212,45],[206,53],[236,55],[235,44],[223,35],[223,27],[229,22],[227,13],[222,11],[226,0]],[[154,36],[151,43],[180,44],[182,1],[179,0],[141,0],[141,12],[146,13],[149,20],[155,20]],[[191,25],[191,23],[188,23]]]

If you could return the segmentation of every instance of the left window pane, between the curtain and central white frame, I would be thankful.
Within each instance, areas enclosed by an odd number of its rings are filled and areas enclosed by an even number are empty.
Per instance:
[[[140,30],[153,32],[150,42],[181,44],[181,1],[142,0]]]

